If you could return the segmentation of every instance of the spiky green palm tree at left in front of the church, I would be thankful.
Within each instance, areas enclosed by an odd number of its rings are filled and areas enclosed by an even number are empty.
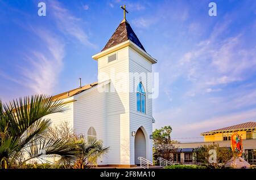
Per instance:
[[[0,101],[0,168],[20,168],[28,160],[59,157],[58,165],[70,165],[81,155],[79,139],[51,139],[44,136],[51,125],[46,115],[63,113],[61,101],[36,95],[13,100],[9,105]],[[26,155],[18,160],[19,155]]]

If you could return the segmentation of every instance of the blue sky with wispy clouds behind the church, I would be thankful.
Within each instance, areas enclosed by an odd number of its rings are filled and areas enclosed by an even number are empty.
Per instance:
[[[38,16],[46,2],[47,16]],[[209,2],[217,16],[208,15]],[[256,1],[2,1],[0,97],[56,93],[97,81],[100,52],[123,18],[158,59],[154,127],[181,142],[256,121]]]

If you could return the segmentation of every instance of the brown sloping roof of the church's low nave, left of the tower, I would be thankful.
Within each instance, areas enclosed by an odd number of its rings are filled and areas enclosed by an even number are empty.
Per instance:
[[[96,86],[97,84],[98,84],[98,82],[94,82],[92,84],[86,84],[86,85],[82,86],[81,88],[72,89],[70,91],[63,92],[63,93],[60,93],[58,95],[55,95],[55,96],[53,96],[53,99],[54,100],[63,100],[64,98],[68,98],[68,97],[78,95],[79,93],[84,92],[84,91]]]

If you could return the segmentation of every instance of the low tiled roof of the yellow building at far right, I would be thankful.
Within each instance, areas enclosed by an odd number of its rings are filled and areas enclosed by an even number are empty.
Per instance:
[[[247,129],[247,128],[256,128],[256,122],[246,122],[246,123],[242,123],[242,124],[239,124],[239,125],[218,128],[217,130],[202,132],[201,135],[203,135],[203,134],[213,134],[214,132],[221,132],[221,131],[243,130],[243,129]]]

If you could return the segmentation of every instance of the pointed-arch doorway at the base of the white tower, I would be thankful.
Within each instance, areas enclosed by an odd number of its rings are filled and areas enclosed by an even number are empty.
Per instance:
[[[139,128],[135,134],[134,157],[135,157],[135,164],[140,164],[138,157],[146,158],[146,138],[141,128]]]

